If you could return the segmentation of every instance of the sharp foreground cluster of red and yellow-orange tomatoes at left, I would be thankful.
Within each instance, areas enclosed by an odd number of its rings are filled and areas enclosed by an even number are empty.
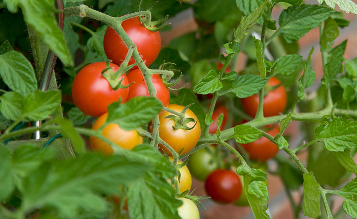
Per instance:
[[[146,29],[141,24],[139,17],[124,20],[121,26],[129,38],[136,44],[145,65],[149,66],[154,62],[161,47],[159,32],[151,32]],[[75,105],[84,114],[98,117],[92,126],[93,130],[98,130],[105,124],[108,116],[107,107],[111,103],[117,101],[125,103],[136,96],[149,96],[143,74],[136,65],[129,72],[119,77],[118,80],[122,86],[119,86],[117,89],[113,89],[109,81],[103,76],[108,70],[116,72],[121,63],[124,62],[129,51],[120,36],[111,27],[108,27],[104,36],[104,50],[108,59],[112,60],[112,63],[96,62],[85,66],[78,72],[72,84],[72,96]],[[135,60],[131,57],[127,65],[129,66],[134,63]],[[170,92],[160,75],[152,75],[151,81],[157,90],[156,98],[161,101],[163,106],[181,113],[185,107],[169,104]],[[185,124],[188,127],[187,129],[173,129],[175,121],[171,118],[166,118],[170,114],[166,111],[160,113],[159,136],[176,153],[186,154],[195,147],[200,137],[198,119],[190,109],[187,109],[185,111],[185,118],[193,118],[193,121]],[[136,130],[126,131],[121,129],[117,124],[107,125],[101,130],[101,134],[123,149],[133,149],[136,145],[143,142],[142,136]],[[113,148],[109,144],[97,137],[90,136],[90,145],[94,151],[102,152],[105,155],[112,155],[114,153]],[[172,153],[167,150],[165,145],[159,144],[159,148],[169,156],[172,156]],[[170,157],[170,159],[172,160],[173,158]],[[179,161],[178,163],[182,162]],[[191,189],[192,180],[187,166],[181,167],[179,171],[183,179],[178,184],[180,192]],[[118,199],[115,197],[113,200],[118,202]],[[190,208],[195,206],[194,212],[196,215],[199,215],[196,205],[191,200],[184,199],[183,201],[184,205],[179,208],[181,216],[186,212],[185,206],[191,206]]]

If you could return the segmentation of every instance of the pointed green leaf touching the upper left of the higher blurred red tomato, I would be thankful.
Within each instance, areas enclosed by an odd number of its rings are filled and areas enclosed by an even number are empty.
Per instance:
[[[232,92],[238,98],[247,98],[258,91],[265,85],[266,79],[262,79],[258,75],[242,75],[232,82]]]

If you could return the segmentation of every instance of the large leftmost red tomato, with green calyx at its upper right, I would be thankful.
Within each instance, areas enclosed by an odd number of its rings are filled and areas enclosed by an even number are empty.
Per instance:
[[[114,71],[118,66],[110,63]],[[75,105],[84,113],[98,117],[107,112],[107,107],[113,102],[124,103],[129,93],[129,88],[113,90],[101,71],[106,69],[105,62],[91,63],[82,68],[75,76],[72,84],[72,98]],[[119,80],[121,84],[129,85],[126,75],[123,74]]]

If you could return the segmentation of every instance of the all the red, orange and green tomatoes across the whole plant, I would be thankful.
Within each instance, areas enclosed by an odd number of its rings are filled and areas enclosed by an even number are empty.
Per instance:
[[[145,65],[148,66],[154,62],[160,52],[160,34],[158,32],[151,32],[142,26],[139,17],[124,20],[121,25],[126,34],[136,44]],[[120,76],[118,80],[121,86],[117,89],[113,89],[108,80],[103,76],[109,70],[116,72],[125,60],[128,52],[120,36],[111,27],[108,27],[104,36],[104,49],[108,59],[112,60],[112,63],[96,62],[85,66],[78,72],[72,85],[72,96],[75,105],[84,114],[98,117],[92,126],[93,130],[98,130],[105,124],[108,116],[107,107],[111,103],[117,101],[125,103],[136,96],[149,95],[143,74],[137,66],[132,67],[129,72]],[[131,64],[135,64],[133,58],[128,63],[128,65]],[[218,68],[220,67],[218,66]],[[184,117],[173,116],[176,119],[173,119],[172,116],[170,117],[172,114],[167,111],[159,114],[159,136],[164,142],[160,143],[158,147],[162,152],[172,156],[171,151],[167,149],[166,145],[163,145],[167,143],[176,153],[184,155],[190,152],[199,140],[201,133],[199,121],[190,109],[186,109],[180,105],[169,104],[170,92],[160,75],[152,75],[151,80],[157,90],[156,97],[161,101],[163,106],[177,113],[184,114]],[[280,85],[277,79],[271,78],[268,86],[270,88],[264,97],[263,111],[264,116],[273,116],[285,109],[287,98],[284,87]],[[212,96],[207,96],[207,98],[212,98]],[[279,103],[274,102],[274,100],[278,100]],[[258,109],[259,96],[252,95],[241,99],[241,103],[246,113],[254,117]],[[212,115],[213,123],[209,127],[210,134],[216,133],[217,118],[222,113],[224,116],[220,128],[224,129],[227,123],[228,109],[225,106],[218,106]],[[188,118],[191,120],[186,120],[185,122],[185,119]],[[184,127],[179,126],[179,128],[175,128],[177,124],[184,124]],[[266,127],[266,132],[275,136],[279,132],[279,128],[278,126]],[[121,129],[117,124],[107,125],[101,130],[101,134],[116,143],[119,147],[129,150],[143,142],[142,136],[136,130],[126,131]],[[100,151],[106,155],[114,153],[109,144],[96,137],[90,137],[90,145],[93,150]],[[242,147],[249,154],[250,159],[263,162],[274,157],[278,151],[275,144],[263,137],[252,143],[244,144]],[[188,167],[184,165],[179,169],[179,191],[184,192],[191,189],[191,171],[195,178],[205,181],[207,194],[213,200],[220,203],[247,204],[241,176],[238,176],[237,173],[229,169],[222,168],[224,165],[223,160],[212,153],[215,150],[213,146],[210,146],[190,155]],[[173,160],[172,157],[170,159]],[[178,162],[178,164],[181,163],[182,161]],[[242,201],[242,199],[245,201]],[[192,201],[184,201],[184,203],[187,202]],[[189,205],[192,206],[192,204]],[[179,209],[179,212],[182,215],[185,211]],[[198,215],[198,210],[195,210],[195,212]],[[192,215],[190,218],[192,218]]]

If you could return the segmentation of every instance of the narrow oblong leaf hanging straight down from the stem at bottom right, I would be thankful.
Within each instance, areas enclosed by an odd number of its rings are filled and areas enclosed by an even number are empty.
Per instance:
[[[320,211],[320,185],[312,174],[303,175],[302,212],[309,217],[318,217]]]

